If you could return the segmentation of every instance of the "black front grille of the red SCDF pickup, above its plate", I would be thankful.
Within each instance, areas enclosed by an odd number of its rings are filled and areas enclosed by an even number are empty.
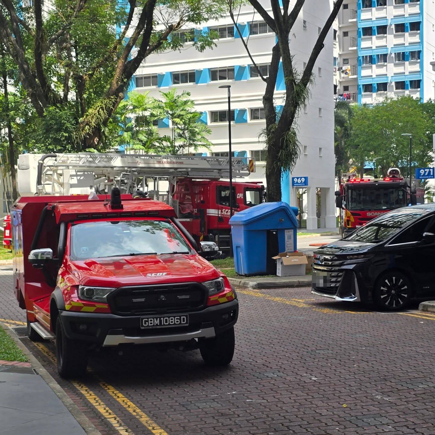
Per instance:
[[[108,298],[118,315],[197,311],[205,306],[206,289],[197,282],[120,287]]]

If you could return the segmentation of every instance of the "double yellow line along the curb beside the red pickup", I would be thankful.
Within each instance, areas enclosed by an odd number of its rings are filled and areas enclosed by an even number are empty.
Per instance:
[[[53,364],[57,364],[56,357],[52,351],[50,351],[45,345],[38,342],[33,344],[45,355]],[[107,391],[120,405],[122,405],[128,412],[136,417],[151,433],[154,435],[168,435],[156,422],[154,422],[148,415],[146,415],[140,408],[134,405],[131,400],[125,397],[120,391],[114,388],[112,385],[107,384],[102,379],[98,378],[98,383],[101,388]],[[122,420],[107,406],[104,402],[86,385],[80,381],[71,381],[74,387],[77,388],[80,393],[84,395],[87,401],[100,412],[103,417],[110,422],[110,424],[121,435],[132,434],[131,430],[122,422]]]

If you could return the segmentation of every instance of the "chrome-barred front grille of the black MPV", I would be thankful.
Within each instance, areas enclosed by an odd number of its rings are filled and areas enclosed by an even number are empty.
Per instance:
[[[343,270],[340,268],[342,264],[343,261],[332,255],[315,254],[313,280],[316,290],[325,294],[336,294],[343,278]]]

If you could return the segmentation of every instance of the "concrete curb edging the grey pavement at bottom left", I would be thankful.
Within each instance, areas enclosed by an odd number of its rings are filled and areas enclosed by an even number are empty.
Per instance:
[[[3,327],[4,328],[4,327]],[[40,362],[33,356],[33,354],[27,349],[26,346],[21,343],[17,335],[9,328],[4,328],[6,333],[13,339],[15,344],[23,351],[23,353],[29,358],[30,364],[33,369],[47,382],[48,386],[54,391],[54,394],[60,398],[60,401],[65,405],[71,415],[77,420],[79,425],[88,435],[101,435],[100,431],[90,422],[90,420],[80,411],[79,407],[71,400],[62,387],[54,380],[54,378],[48,373]]]

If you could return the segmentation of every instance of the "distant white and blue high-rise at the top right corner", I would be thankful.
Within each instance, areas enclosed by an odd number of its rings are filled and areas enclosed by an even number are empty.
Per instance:
[[[431,0],[345,0],[336,98],[360,104],[400,95],[433,99],[434,11]]]

